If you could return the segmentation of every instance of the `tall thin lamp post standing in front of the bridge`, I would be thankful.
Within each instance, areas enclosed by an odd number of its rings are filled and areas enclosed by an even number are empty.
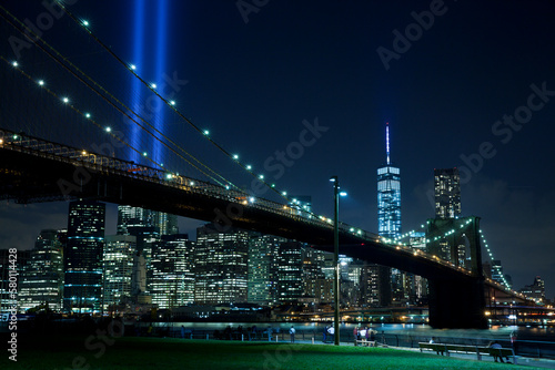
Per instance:
[[[333,300],[334,300],[334,345],[340,345],[340,195],[346,195],[345,193],[340,193],[340,182],[337,176],[330,177],[333,183],[333,202],[334,202],[334,217],[333,217],[333,265],[335,269],[334,276],[334,289],[333,289]]]

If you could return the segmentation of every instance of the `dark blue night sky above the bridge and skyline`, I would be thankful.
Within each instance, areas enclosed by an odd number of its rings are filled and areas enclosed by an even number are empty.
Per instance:
[[[463,216],[482,217],[514,287],[541,276],[547,298],[555,297],[552,1],[168,0],[164,17],[157,12],[164,1],[68,3],[147,81],[176,76],[181,84],[167,92],[186,117],[278,188],[311,195],[315,213],[333,215],[329,178],[337,175],[349,193],[341,201],[341,220],[371,232],[377,232],[376,168],[385,163],[390,122],[391,160],[402,175],[403,232],[420,229],[434,216],[434,168],[460,167]],[[140,3],[145,12],[138,23]],[[2,7],[34,23],[48,11],[30,0],[6,0]],[[0,21],[7,60],[18,60],[52,89],[85,96],[83,85],[51,66],[37,47],[14,52],[10,37],[18,33]],[[56,19],[43,38],[119,99],[129,104],[148,99],[129,71],[69,16]],[[137,55],[141,60],[133,60]],[[97,129],[81,129],[83,120],[63,104],[36,96],[36,86],[4,62],[0,75],[0,126],[82,145],[97,137],[89,136]],[[137,146],[155,152],[99,100],[73,99],[91,102]],[[250,187],[238,165],[170,111],[162,112],[152,122],[167,135]],[[303,134],[307,126],[316,134]],[[276,151],[287,148],[293,156],[278,165]],[[163,150],[159,155],[163,161]],[[186,173],[176,161],[171,165]],[[0,247],[31,248],[40,229],[67,227],[67,203],[3,202]],[[110,205],[108,234],[115,234],[115,213]],[[193,238],[202,224],[180,219],[181,230]]]

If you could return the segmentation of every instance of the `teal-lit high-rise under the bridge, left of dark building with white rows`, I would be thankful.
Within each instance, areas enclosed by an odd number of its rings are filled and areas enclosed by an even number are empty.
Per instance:
[[[286,239],[251,233],[249,239],[248,301],[273,305],[278,301],[278,250]]]

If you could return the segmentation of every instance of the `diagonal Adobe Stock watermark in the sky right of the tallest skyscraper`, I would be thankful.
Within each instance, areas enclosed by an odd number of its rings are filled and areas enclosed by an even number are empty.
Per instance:
[[[529,85],[532,93],[526,99],[526,103],[516,107],[512,115],[504,114],[498,121],[492,125],[492,134],[503,145],[508,144],[516,132],[523,129],[523,125],[529,123],[535,112],[541,111],[549,103],[551,99],[555,96],[555,90],[547,90],[547,82],[542,82],[541,86],[533,83]],[[467,184],[472,176],[477,174],[485,165],[487,160],[492,160],[497,155],[500,144],[491,141],[484,141],[474,153],[461,154],[458,157],[464,165],[458,166],[458,174],[461,176],[461,185]],[[435,204],[434,192],[428,192],[428,201]]]

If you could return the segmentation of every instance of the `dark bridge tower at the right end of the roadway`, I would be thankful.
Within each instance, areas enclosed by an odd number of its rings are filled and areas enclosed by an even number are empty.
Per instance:
[[[457,267],[470,269],[466,279],[428,279],[430,325],[436,328],[486,328],[486,300],[480,217],[427,220],[426,249]]]

